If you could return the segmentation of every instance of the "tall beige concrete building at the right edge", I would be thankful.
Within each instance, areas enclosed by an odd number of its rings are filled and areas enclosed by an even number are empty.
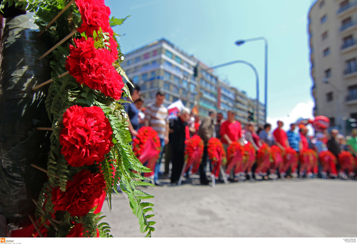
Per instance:
[[[308,14],[315,116],[357,119],[357,1],[317,0]]]

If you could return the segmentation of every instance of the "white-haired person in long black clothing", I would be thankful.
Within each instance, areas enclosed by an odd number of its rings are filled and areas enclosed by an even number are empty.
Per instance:
[[[180,179],[183,164],[185,162],[185,139],[186,139],[186,126],[187,121],[190,120],[190,110],[183,108],[174,120],[172,126],[172,169],[171,169],[171,183],[176,183]]]

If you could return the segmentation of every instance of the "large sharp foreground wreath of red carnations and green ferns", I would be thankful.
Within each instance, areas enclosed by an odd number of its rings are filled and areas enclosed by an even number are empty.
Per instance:
[[[39,36],[44,33],[48,40],[63,38],[38,59],[52,52],[51,80],[32,88],[50,83],[45,105],[52,122],[51,149],[47,169],[34,166],[49,178],[39,199],[33,199],[40,228],[44,226],[51,237],[112,237],[108,224],[99,224],[102,217],[94,212],[103,192],[111,209],[111,194],[118,193],[120,186],[129,196],[141,232],[151,237],[155,222],[148,219],[154,215],[146,213],[152,211],[153,204],[142,199],[153,196],[135,187],[152,184],[132,181],[146,179],[133,171],[150,169],[142,166],[131,148],[121,105],[122,95],[130,97],[122,77],[130,81],[120,67],[124,55],[111,28],[126,18],[109,19],[110,8],[104,0],[75,0],[67,5],[59,0],[4,0],[0,9],[6,2],[36,12]],[[47,25],[49,17],[53,19]],[[38,234],[41,236],[41,231]]]

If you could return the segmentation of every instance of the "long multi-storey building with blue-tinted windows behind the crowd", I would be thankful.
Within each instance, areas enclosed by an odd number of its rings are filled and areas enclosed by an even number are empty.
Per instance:
[[[197,77],[193,70],[197,66]],[[188,108],[198,106],[201,116],[210,110],[236,111],[236,119],[248,122],[250,99],[225,81],[221,81],[203,62],[178,49],[166,39],[154,41],[125,55],[122,62],[128,78],[140,85],[144,105],[155,101],[157,91],[165,93],[164,104],[181,99]]]

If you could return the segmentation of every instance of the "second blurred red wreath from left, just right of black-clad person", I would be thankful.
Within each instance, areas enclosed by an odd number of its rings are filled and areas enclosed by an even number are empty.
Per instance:
[[[186,140],[185,144],[185,159],[187,162],[185,172],[193,165],[192,173],[195,174],[202,160],[203,140],[201,137],[195,135]]]

